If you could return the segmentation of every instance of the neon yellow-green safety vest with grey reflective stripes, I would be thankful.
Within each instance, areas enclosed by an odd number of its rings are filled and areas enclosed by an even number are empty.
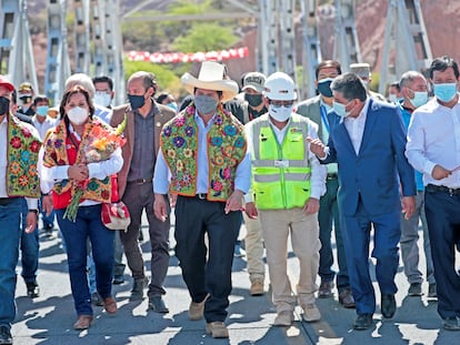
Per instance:
[[[282,145],[268,114],[256,119],[253,129],[252,190],[259,210],[303,207],[310,197],[311,166],[306,151],[308,122],[292,114]]]

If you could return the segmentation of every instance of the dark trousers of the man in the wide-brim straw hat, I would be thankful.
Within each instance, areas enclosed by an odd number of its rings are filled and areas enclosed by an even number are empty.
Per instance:
[[[224,206],[186,196],[178,196],[176,204],[176,255],[192,301],[202,302],[210,294],[204,304],[208,323],[227,317],[233,247],[241,224],[241,212],[226,214]]]

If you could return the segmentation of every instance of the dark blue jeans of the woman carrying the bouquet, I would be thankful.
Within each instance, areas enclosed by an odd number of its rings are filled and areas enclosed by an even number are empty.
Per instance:
[[[56,210],[67,244],[70,286],[78,315],[92,315],[87,278],[87,239],[96,264],[96,285],[102,298],[111,296],[113,278],[113,235],[101,222],[101,205],[80,206],[76,222],[63,219],[66,209]]]

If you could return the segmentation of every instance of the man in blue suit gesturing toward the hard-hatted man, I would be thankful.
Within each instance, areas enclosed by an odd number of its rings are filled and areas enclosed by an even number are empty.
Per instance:
[[[370,99],[353,73],[337,77],[331,89],[334,100],[329,113],[328,146],[318,139],[309,139],[310,150],[321,163],[339,164],[342,235],[358,313],[354,328],[367,329],[376,311],[369,273],[371,225],[380,308],[383,317],[390,318],[396,312],[398,291],[394,275],[399,264],[400,212],[406,217],[413,213],[416,183],[413,169],[404,156],[406,131],[399,109]]]

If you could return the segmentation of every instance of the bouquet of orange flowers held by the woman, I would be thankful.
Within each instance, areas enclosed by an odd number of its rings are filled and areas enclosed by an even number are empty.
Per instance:
[[[86,135],[86,140],[81,141],[82,163],[86,164],[108,160],[118,148],[126,143],[126,139],[122,135],[127,125],[126,114],[123,121],[116,129],[107,126],[97,120],[92,124],[90,132]],[[88,184],[88,179],[73,183],[72,199],[66,209],[64,219],[71,222],[76,221],[80,200],[84,191],[87,191]]]

